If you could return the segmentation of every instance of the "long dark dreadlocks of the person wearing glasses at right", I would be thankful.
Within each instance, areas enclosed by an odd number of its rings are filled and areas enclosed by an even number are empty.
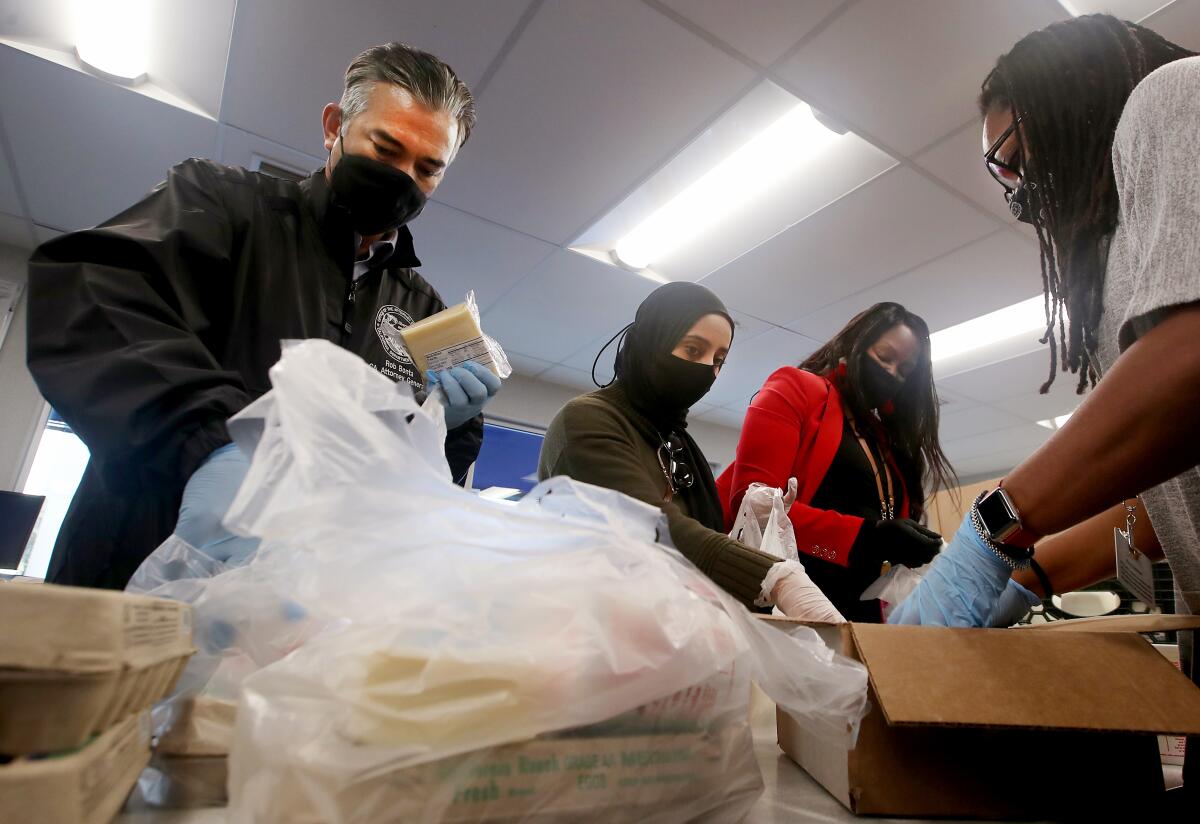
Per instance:
[[[1010,110],[1020,118],[1014,134],[1042,252],[1042,342],[1050,344],[1043,393],[1054,383],[1060,348],[1062,369],[1079,373],[1075,391],[1096,386],[1104,270],[1118,215],[1112,138],[1134,86],[1188,56],[1150,29],[1088,14],[1026,35],[983,83],[984,116]]]

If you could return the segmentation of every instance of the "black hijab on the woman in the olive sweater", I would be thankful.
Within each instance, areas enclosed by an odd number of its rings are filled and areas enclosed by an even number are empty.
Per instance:
[[[713,470],[700,446],[688,434],[688,407],[664,392],[661,381],[654,379],[655,360],[670,355],[688,330],[706,314],[719,314],[730,321],[732,343],[733,318],[710,289],[698,283],[680,282],[667,283],[652,291],[637,307],[634,323],[620,335],[617,377],[605,391],[620,403],[650,446],[658,449],[667,438],[683,446],[680,458],[691,469],[695,482],[688,489],[677,489],[676,497],[685,501],[692,518],[709,529],[725,531],[725,513],[716,494]]]

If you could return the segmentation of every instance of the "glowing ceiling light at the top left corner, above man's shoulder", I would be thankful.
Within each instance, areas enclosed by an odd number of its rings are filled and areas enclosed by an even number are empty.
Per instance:
[[[101,77],[140,83],[146,77],[150,0],[76,0],[76,54]]]

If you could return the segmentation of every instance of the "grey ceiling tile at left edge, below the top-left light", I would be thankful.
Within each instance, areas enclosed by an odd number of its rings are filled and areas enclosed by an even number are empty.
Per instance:
[[[130,89],[2,46],[0,76],[0,109],[37,223],[94,225],[179,161],[212,156],[216,122]]]

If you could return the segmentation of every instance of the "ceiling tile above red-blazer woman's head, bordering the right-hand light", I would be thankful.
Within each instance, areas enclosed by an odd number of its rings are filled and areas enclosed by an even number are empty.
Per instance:
[[[1000,229],[970,246],[840,300],[791,324],[826,341],[856,314],[880,301],[904,303],[930,331],[977,318],[1038,294],[1037,247]]]

